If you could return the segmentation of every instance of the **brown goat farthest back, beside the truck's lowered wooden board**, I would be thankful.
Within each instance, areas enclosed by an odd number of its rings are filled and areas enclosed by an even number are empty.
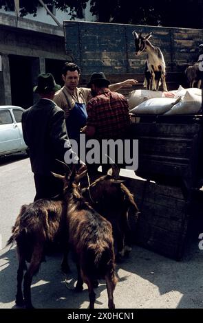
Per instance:
[[[128,212],[131,209],[135,219],[138,207],[133,194],[118,179],[119,168],[113,164],[111,175],[96,179],[89,188],[83,188],[83,196],[92,207],[107,219],[114,233],[116,243],[116,260],[120,260],[131,251],[131,230],[128,223]]]

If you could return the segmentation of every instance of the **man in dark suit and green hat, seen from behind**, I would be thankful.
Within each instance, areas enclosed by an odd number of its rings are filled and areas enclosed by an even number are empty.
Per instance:
[[[86,168],[70,146],[64,111],[53,101],[58,89],[61,86],[56,84],[52,74],[39,74],[38,84],[33,91],[39,93],[41,98],[24,111],[22,116],[23,137],[30,151],[30,163],[34,172],[34,201],[51,198],[62,192],[63,183],[51,171],[58,172],[56,159],[64,161],[65,151],[71,150],[73,159],[78,164],[78,172]]]

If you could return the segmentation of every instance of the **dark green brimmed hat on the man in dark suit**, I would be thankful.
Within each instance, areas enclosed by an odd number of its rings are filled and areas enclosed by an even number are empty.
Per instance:
[[[39,74],[37,83],[36,87],[33,88],[34,93],[50,93],[61,89],[61,85],[56,84],[51,73]]]

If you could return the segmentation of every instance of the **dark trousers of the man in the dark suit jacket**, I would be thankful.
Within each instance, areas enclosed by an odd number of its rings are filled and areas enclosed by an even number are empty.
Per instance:
[[[34,183],[36,188],[36,195],[34,201],[38,199],[51,199],[58,194],[63,193],[63,181],[50,175],[34,174]]]

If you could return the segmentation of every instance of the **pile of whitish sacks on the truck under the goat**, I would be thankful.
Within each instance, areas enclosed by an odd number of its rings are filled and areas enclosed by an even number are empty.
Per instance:
[[[132,91],[129,96],[130,113],[192,114],[198,113],[202,108],[202,89],[184,89],[180,86],[177,91],[170,92],[174,93],[174,98],[164,98],[164,93],[161,91]]]

